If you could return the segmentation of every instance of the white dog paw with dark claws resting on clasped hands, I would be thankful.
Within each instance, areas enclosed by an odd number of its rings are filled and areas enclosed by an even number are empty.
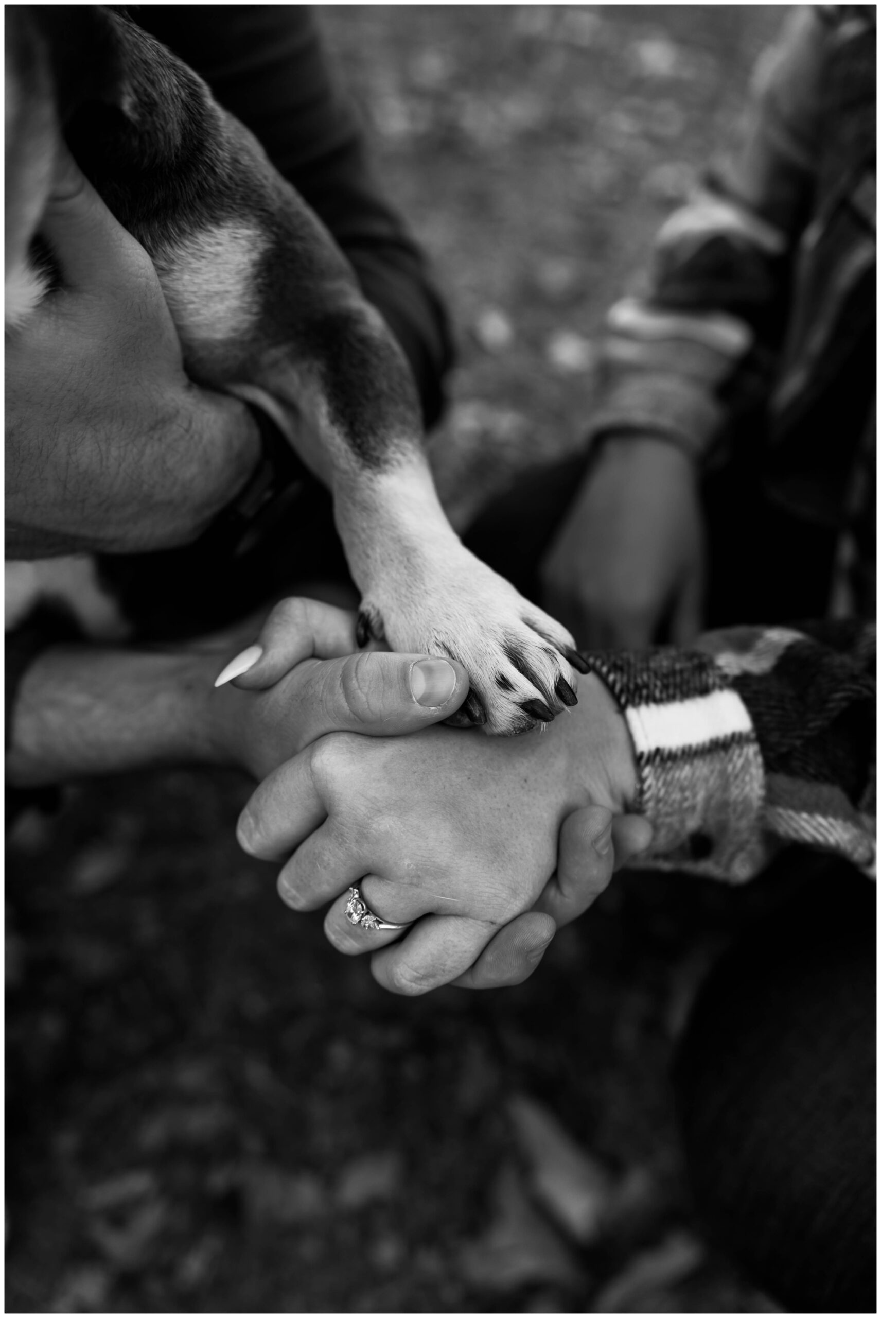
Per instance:
[[[457,659],[470,691],[448,722],[512,737],[577,704],[587,668],[569,631],[461,546],[383,587],[361,605],[358,643],[385,634],[392,650]]]

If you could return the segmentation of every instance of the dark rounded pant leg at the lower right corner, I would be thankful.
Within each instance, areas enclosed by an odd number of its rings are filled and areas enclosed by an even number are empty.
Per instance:
[[[876,1311],[874,1015],[874,886],[828,862],[722,958],[680,1046],[707,1231],[794,1311]]]

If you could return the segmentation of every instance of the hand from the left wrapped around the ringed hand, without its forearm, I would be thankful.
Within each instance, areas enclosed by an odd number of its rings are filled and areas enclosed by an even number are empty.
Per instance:
[[[283,600],[255,641],[223,668],[217,685],[232,683],[252,693],[242,701],[221,691],[215,705],[223,702],[225,710],[232,758],[255,778],[325,733],[402,735],[449,717],[464,700],[467,679],[458,664],[353,654],[354,627],[352,613],[315,600]],[[223,646],[228,650],[229,643]],[[612,870],[644,850],[647,833],[649,825],[639,816],[612,816],[599,805],[566,820],[561,830],[565,855],[532,912],[499,929],[453,982],[462,988],[502,988],[527,979],[557,927],[581,915]]]

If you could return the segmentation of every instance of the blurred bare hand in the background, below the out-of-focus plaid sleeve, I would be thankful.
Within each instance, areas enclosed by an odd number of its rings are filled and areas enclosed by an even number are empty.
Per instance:
[[[687,645],[701,630],[693,461],[657,436],[606,440],[543,565],[545,608],[590,648]]]

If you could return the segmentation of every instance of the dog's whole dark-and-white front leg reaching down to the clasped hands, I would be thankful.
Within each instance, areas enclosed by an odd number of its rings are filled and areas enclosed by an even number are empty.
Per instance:
[[[254,137],[124,13],[14,5],[5,18],[11,332],[46,290],[33,239],[63,133],[153,258],[190,376],[269,410],[331,488],[360,643],[458,659],[487,731],[574,704],[572,637],[450,529],[403,353]]]

